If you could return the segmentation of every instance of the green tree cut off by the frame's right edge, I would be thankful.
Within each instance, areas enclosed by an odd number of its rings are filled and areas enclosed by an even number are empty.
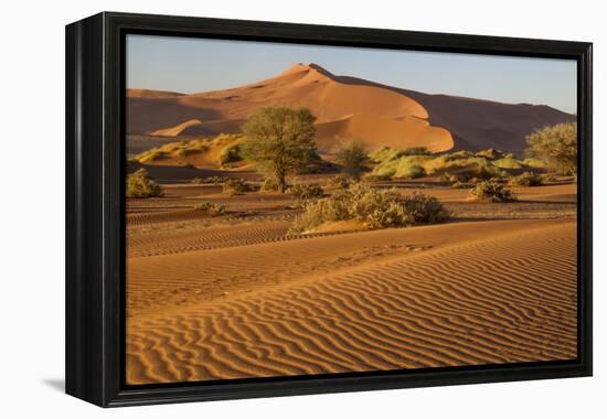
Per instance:
[[[563,174],[577,174],[577,123],[558,123],[526,137],[525,154]]]

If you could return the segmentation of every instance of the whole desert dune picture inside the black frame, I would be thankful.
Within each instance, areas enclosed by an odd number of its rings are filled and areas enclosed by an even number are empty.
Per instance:
[[[126,384],[577,358],[571,60],[126,40]]]

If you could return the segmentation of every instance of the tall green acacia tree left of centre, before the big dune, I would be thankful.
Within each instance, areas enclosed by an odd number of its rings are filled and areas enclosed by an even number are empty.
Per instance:
[[[286,178],[317,155],[315,116],[307,108],[268,107],[253,114],[243,126],[245,159],[260,164],[285,192]]]

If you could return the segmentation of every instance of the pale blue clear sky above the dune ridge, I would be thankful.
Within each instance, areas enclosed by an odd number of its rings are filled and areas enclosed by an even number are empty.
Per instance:
[[[200,93],[273,77],[297,63],[428,94],[576,111],[573,60],[127,35],[127,87]]]

